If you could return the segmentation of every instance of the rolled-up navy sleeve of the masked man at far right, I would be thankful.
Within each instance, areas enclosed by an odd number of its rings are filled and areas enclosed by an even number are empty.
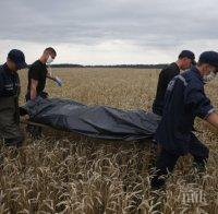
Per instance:
[[[187,110],[202,118],[206,119],[215,111],[209,98],[206,97],[203,88],[192,88],[185,94],[185,106]]]

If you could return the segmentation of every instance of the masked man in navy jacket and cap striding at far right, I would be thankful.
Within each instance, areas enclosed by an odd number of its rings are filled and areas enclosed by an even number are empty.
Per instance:
[[[153,188],[165,185],[168,171],[172,171],[181,155],[191,153],[194,166],[204,170],[208,148],[192,132],[195,117],[218,129],[218,115],[204,92],[204,84],[218,71],[218,52],[206,51],[199,56],[196,67],[177,75],[168,85],[162,119],[155,140],[161,147],[157,158],[157,173],[152,179]]]

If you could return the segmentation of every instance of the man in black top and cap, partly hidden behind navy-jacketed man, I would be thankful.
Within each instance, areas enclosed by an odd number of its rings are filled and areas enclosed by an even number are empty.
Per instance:
[[[156,98],[153,104],[153,112],[162,116],[162,108],[165,102],[165,93],[169,82],[178,74],[180,70],[186,70],[191,64],[195,64],[195,56],[190,50],[182,50],[179,55],[178,61],[169,64],[161,70],[158,79]]]

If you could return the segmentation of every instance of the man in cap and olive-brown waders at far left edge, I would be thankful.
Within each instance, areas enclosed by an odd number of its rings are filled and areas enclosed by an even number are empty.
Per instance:
[[[13,49],[0,67],[0,138],[5,145],[20,146],[24,140],[19,122],[20,79],[17,70],[26,67],[24,54]]]

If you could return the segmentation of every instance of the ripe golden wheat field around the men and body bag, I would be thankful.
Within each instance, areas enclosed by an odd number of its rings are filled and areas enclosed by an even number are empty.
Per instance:
[[[50,97],[86,105],[149,110],[159,70],[52,69]],[[20,72],[24,103],[26,70]],[[217,79],[206,86],[218,107]],[[19,150],[1,145],[0,213],[218,213],[218,135],[201,120],[197,136],[210,148],[207,171],[197,175],[192,157],[181,157],[165,191],[149,188],[150,142],[112,142],[45,130]],[[156,195],[159,195],[157,198]]]

